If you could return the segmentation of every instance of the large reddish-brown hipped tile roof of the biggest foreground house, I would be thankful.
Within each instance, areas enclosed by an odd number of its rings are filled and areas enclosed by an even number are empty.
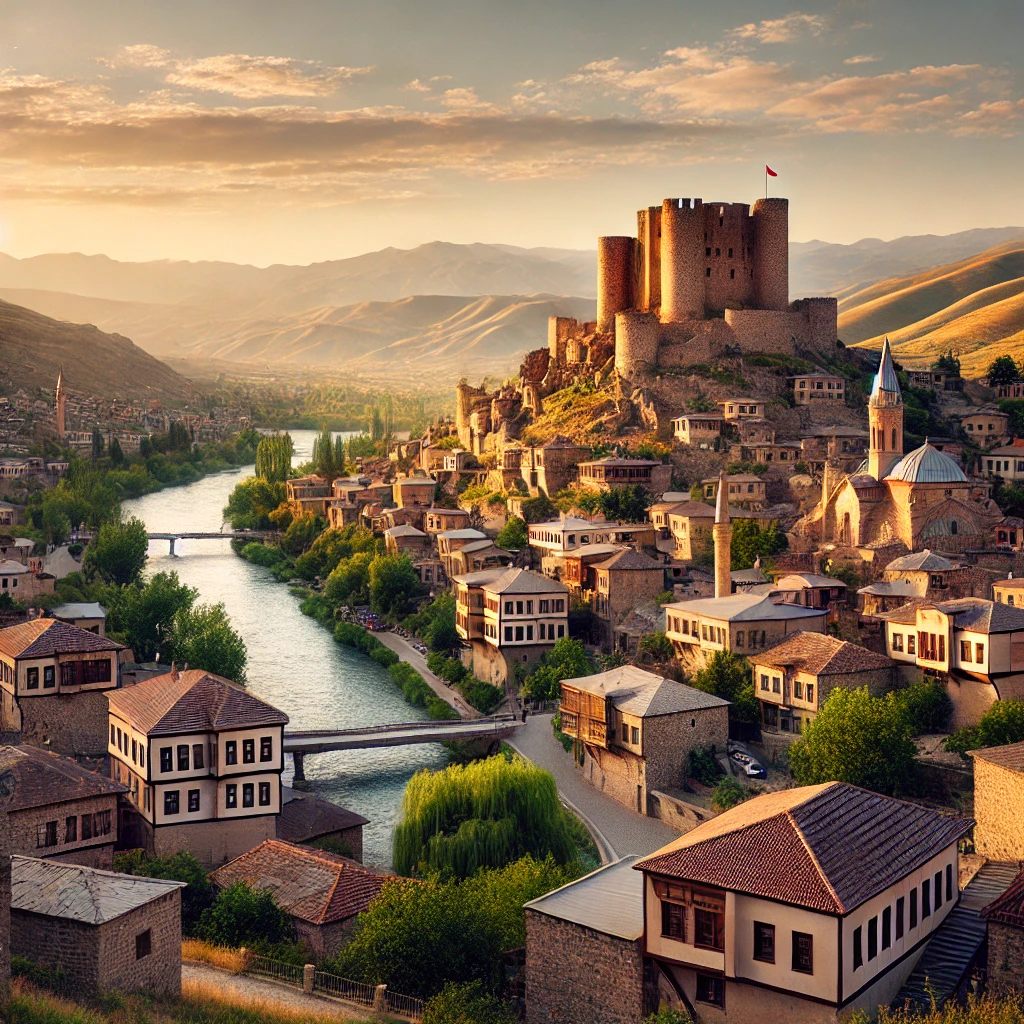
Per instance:
[[[766,794],[640,861],[645,871],[847,913],[972,827],[845,782]]]

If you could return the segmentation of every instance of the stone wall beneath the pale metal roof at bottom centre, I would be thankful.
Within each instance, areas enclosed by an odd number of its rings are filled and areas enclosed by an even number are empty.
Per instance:
[[[636,1024],[640,941],[526,910],[526,1024]]]

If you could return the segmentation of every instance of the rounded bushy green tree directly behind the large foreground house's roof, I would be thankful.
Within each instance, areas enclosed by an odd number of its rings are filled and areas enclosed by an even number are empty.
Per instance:
[[[866,687],[838,686],[790,748],[790,768],[801,785],[838,781],[904,793],[914,777],[910,731],[906,711],[895,701],[872,697]]]

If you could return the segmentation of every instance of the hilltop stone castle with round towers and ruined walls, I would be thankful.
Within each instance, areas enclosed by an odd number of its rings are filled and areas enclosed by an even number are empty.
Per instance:
[[[460,385],[456,424],[474,452],[517,436],[523,414],[580,379],[613,372],[641,406],[660,371],[744,353],[828,352],[837,301],[790,302],[790,201],[667,199],[637,213],[637,236],[597,240],[597,319],[552,316],[548,346],[496,392]],[[640,396],[638,396],[638,391]],[[640,409],[643,420],[643,409]],[[490,435],[495,435],[492,439]]]

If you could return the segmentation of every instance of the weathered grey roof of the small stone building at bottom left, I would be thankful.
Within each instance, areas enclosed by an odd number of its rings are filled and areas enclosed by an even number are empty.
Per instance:
[[[95,867],[38,860],[14,854],[10,858],[10,906],[47,918],[86,925],[103,925],[129,910],[160,899],[183,882],[119,874]]]

